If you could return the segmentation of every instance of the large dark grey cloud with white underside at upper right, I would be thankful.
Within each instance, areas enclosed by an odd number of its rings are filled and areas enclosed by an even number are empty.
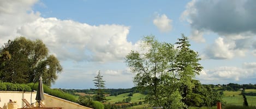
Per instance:
[[[190,27],[191,39],[205,42],[205,33],[219,35],[215,43],[205,49],[207,59],[231,59],[255,53],[252,48],[256,36],[256,1],[193,0],[181,15]]]

